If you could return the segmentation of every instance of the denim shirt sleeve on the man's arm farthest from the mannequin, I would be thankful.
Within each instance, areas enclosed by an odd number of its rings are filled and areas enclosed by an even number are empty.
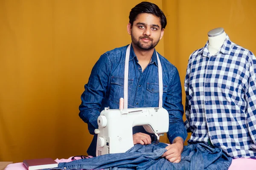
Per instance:
[[[94,134],[94,130],[98,128],[97,119],[107,91],[110,70],[110,59],[107,54],[103,54],[93,66],[88,83],[84,85],[79,116],[88,124],[90,134]]]

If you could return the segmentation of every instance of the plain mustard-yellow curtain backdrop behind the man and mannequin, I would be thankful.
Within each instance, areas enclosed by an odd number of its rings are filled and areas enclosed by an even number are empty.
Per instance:
[[[212,28],[256,51],[254,0],[149,1],[167,15],[157,51],[178,68],[182,85],[189,55]],[[130,43],[128,15],[140,2],[0,0],[0,161],[86,154],[83,86],[101,54]]]

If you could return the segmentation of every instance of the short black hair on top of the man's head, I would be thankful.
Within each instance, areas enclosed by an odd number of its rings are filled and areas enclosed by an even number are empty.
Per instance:
[[[133,25],[134,20],[136,20],[138,14],[141,14],[141,13],[149,13],[159,17],[162,28],[166,27],[167,20],[163,11],[156,4],[150,3],[150,2],[141,2],[136,6],[134,6],[134,8],[132,8],[130,11],[129,23]]]

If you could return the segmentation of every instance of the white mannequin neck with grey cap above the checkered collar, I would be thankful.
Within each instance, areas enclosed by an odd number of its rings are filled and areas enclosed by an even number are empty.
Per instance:
[[[226,33],[223,28],[214,28],[208,32],[208,51],[210,55],[215,55],[220,50],[226,39]]]

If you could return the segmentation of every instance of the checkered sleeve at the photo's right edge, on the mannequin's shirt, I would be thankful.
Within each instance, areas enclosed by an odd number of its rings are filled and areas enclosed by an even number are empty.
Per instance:
[[[256,58],[249,52],[252,58],[249,64],[248,87],[246,91],[247,99],[247,127],[253,140],[256,143]]]

